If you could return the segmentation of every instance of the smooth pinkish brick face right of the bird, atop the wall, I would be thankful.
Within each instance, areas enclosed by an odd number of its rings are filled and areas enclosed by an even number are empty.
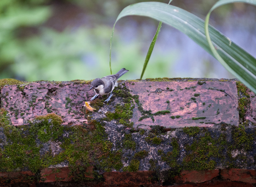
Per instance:
[[[150,125],[160,125],[168,129],[211,127],[218,123],[239,124],[235,81],[126,82],[125,85],[132,95],[139,95],[144,111],[150,110],[151,114],[170,111],[140,120],[142,114],[136,105],[131,119],[133,127],[150,129]]]

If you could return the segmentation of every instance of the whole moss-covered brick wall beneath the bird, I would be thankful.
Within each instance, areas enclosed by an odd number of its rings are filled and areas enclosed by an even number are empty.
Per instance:
[[[0,80],[0,185],[253,186],[255,94],[236,79]]]

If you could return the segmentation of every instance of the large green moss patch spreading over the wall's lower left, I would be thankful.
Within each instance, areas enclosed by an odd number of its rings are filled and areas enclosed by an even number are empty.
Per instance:
[[[37,116],[33,123],[16,127],[9,125],[8,113],[1,108],[0,126],[6,141],[1,142],[4,149],[0,149],[0,172],[29,169],[36,173],[39,169],[68,161],[71,174],[76,173],[77,180],[87,180],[83,172],[90,165],[99,163],[106,171],[123,167],[122,151],[111,151],[112,143],[99,122],[90,121],[86,128],[61,123],[60,116],[48,114]],[[55,156],[49,147],[44,147],[54,142],[62,150]]]

